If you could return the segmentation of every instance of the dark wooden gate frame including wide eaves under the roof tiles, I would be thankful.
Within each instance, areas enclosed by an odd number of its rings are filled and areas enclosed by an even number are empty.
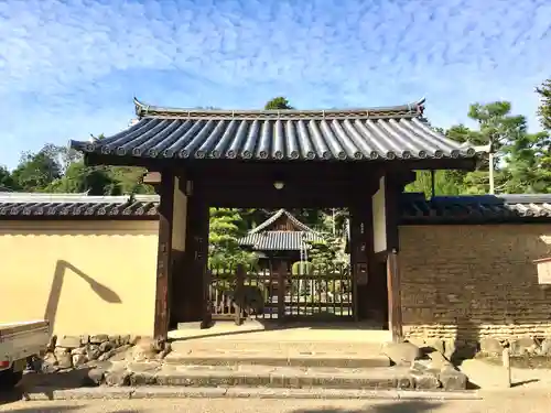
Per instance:
[[[154,337],[166,340],[175,314],[182,320],[207,324],[210,309],[206,308],[206,291],[202,273],[194,268],[205,268],[208,242],[208,206],[226,207],[348,207],[352,214],[350,246],[352,265],[355,276],[360,271],[372,272],[377,261],[386,262],[389,328],[392,339],[402,334],[402,307],[400,300],[400,269],[398,242],[397,196],[404,185],[414,181],[415,170],[468,170],[475,167],[476,159],[424,159],[380,162],[282,162],[238,160],[187,160],[140,159],[112,154],[86,153],[87,165],[142,166],[150,171],[151,184],[160,195],[159,256],[155,291]],[[185,181],[187,195],[186,253],[183,267],[175,273],[172,256],[172,222],[174,176]],[[378,187],[380,176],[386,176],[387,248],[372,252],[371,196]],[[268,191],[274,181],[291,183],[277,192]],[[228,185],[230,184],[230,185]],[[305,191],[305,185],[310,185]],[[264,196],[257,191],[262,187]],[[230,191],[228,191],[230,189]],[[183,191],[182,188],[180,191]],[[209,195],[210,194],[210,195]],[[214,197],[213,194],[216,194]],[[247,202],[245,202],[247,200]],[[356,229],[355,229],[356,228]],[[363,230],[358,229],[363,228]],[[185,268],[185,271],[182,269]],[[187,271],[192,269],[192,271]],[[179,280],[184,276],[185,280]],[[197,282],[198,281],[198,282]],[[173,300],[174,284],[185,284],[182,301]],[[366,289],[356,289],[358,315],[365,316],[366,301],[361,297]],[[171,302],[172,301],[172,302]],[[173,326],[173,324],[172,324]]]

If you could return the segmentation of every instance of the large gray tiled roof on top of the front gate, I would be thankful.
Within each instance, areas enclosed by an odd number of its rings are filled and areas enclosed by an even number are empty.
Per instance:
[[[71,141],[85,153],[150,159],[374,161],[474,157],[487,148],[447,139],[422,118],[424,99],[332,110],[198,110],[149,106],[120,133]]]

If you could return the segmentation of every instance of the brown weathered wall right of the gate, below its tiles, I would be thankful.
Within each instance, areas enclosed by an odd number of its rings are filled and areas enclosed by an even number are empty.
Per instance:
[[[551,290],[533,260],[551,253],[548,225],[403,226],[404,333],[417,340],[551,337]]]

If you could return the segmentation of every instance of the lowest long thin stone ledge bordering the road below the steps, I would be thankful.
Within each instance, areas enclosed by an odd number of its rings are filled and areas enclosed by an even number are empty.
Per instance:
[[[406,390],[349,390],[349,389],[269,389],[269,388],[86,388],[52,390],[33,389],[23,395],[26,401],[43,400],[119,400],[119,399],[380,399],[380,400],[482,400],[476,391],[406,391]]]

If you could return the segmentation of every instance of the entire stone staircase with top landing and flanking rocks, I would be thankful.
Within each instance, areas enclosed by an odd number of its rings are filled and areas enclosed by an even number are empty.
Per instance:
[[[62,388],[75,387],[76,378],[80,385],[131,388],[466,389],[466,377],[440,352],[420,360],[412,344],[383,345],[387,332],[233,328],[180,332],[171,340],[171,351],[162,356],[142,357],[151,349],[141,349],[139,343],[84,370],[55,378],[35,374],[30,385],[48,387],[55,379]]]

